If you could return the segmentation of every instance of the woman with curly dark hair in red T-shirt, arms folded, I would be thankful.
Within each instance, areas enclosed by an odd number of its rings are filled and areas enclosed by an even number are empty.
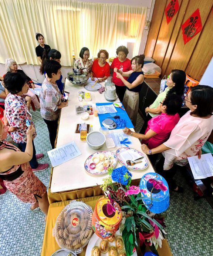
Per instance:
[[[132,70],[131,60],[126,58],[128,53],[129,53],[129,50],[128,50],[128,48],[126,48],[126,46],[123,46],[123,45],[119,46],[116,49],[116,55],[118,55],[118,57],[113,60],[110,68],[112,68],[113,70],[114,70],[114,68],[117,68],[121,72],[127,72],[129,70]],[[127,80],[128,77],[124,77],[124,79]],[[126,91],[126,86],[121,81],[121,79],[116,77],[116,72],[113,72],[112,82],[115,83],[116,93],[118,95],[118,98],[122,102],[123,99],[124,99],[124,94],[125,94],[125,91]]]

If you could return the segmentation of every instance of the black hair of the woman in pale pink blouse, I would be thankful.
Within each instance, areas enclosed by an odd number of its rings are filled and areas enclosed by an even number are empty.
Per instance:
[[[190,101],[197,108],[190,115],[206,117],[213,114],[213,88],[208,85],[197,85],[190,88]]]

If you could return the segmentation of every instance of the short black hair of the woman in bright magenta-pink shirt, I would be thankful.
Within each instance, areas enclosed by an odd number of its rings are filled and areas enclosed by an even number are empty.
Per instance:
[[[167,94],[163,101],[163,105],[166,105],[166,114],[175,115],[182,107],[182,98],[175,93]]]

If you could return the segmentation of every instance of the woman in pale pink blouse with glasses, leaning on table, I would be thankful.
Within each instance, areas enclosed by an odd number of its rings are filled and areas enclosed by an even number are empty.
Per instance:
[[[182,192],[183,188],[176,185],[173,176],[177,165],[188,163],[187,157],[198,155],[209,138],[213,129],[213,88],[206,85],[192,87],[185,98],[190,109],[180,118],[172,130],[169,140],[150,150],[147,145],[141,146],[147,155],[163,152],[165,157],[156,165],[156,170],[168,182],[170,190]]]

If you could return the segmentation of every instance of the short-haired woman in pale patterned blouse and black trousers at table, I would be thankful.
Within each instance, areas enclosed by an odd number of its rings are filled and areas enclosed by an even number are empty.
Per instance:
[[[46,60],[44,71],[47,78],[44,79],[40,92],[41,116],[47,124],[51,146],[55,148],[60,109],[68,106],[68,102],[61,101],[62,95],[56,83],[61,76],[61,64],[56,60]]]

